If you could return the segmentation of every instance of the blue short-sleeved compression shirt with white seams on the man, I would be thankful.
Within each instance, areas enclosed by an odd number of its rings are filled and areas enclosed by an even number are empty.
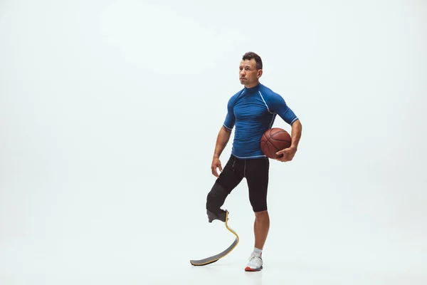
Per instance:
[[[298,120],[283,97],[261,83],[231,96],[223,123],[228,130],[236,126],[231,154],[243,159],[265,157],[260,140],[272,128],[276,115],[289,125]]]

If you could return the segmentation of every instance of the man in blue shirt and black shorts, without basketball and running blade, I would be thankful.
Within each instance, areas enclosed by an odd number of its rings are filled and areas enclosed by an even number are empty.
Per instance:
[[[253,232],[255,247],[246,266],[246,271],[263,269],[262,251],[270,228],[267,209],[267,189],[269,160],[260,149],[260,139],[266,130],[272,128],[276,115],[292,126],[292,143],[289,148],[277,152],[280,162],[292,160],[297,152],[302,125],[285,100],[270,88],[259,82],[263,75],[263,62],[256,53],[243,55],[239,66],[239,77],[244,88],[229,100],[226,119],[219,130],[212,160],[212,174],[217,177],[214,186],[206,197],[206,213],[209,222],[214,219],[225,222],[226,211],[221,206],[231,191],[246,178],[249,200],[255,222]],[[236,126],[231,157],[222,169],[219,157]],[[218,175],[217,169],[221,171]]]

